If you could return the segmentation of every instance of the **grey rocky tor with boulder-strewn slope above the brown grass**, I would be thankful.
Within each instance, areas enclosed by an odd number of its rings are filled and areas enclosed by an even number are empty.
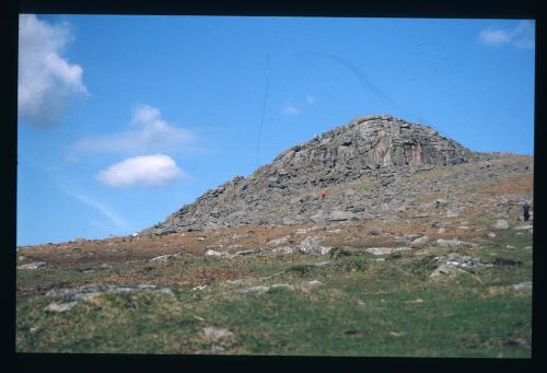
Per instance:
[[[453,183],[488,179],[486,166],[457,168],[488,159],[427,126],[389,115],[362,116],[290,148],[246,178],[236,176],[206,191],[141,234],[419,214],[424,195],[442,196],[439,203],[446,205]],[[456,170],[443,178],[446,167]],[[439,177],[419,177],[435,171]],[[458,213],[464,205],[454,200],[449,207]]]

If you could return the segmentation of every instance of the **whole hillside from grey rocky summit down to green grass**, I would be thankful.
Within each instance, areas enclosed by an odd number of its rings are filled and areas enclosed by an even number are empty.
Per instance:
[[[533,168],[358,118],[139,235],[19,247],[16,351],[529,358]]]

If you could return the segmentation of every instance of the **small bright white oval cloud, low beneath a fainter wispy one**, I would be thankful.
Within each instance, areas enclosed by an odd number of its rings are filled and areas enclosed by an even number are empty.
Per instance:
[[[135,184],[163,186],[177,177],[187,178],[175,161],[164,154],[135,156],[101,171],[95,177],[113,187]]]

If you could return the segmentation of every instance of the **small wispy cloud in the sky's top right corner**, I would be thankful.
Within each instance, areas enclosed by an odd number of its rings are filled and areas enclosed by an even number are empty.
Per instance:
[[[534,48],[534,22],[521,21],[512,28],[489,26],[479,33],[478,39],[487,46],[513,45],[523,49]]]

